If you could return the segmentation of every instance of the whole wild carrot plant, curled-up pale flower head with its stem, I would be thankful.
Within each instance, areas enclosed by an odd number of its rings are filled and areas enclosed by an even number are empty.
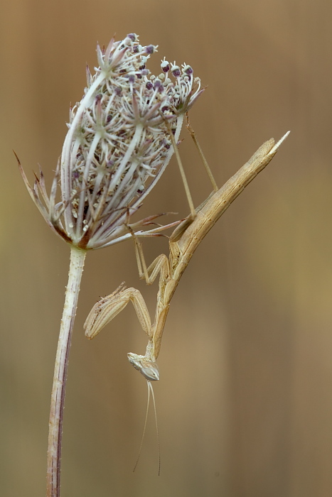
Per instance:
[[[161,229],[177,224],[142,231],[153,224],[154,215],[128,225],[173,155],[170,133],[177,141],[184,114],[203,92],[186,64],[180,68],[164,59],[161,74],[151,75],[146,61],[155,51],[154,45],[139,45],[134,33],[111,40],[106,49],[97,46],[99,66],[94,75],[87,68],[84,96],[70,109],[49,196],[42,170],[31,186],[18,161],[33,202],[71,250],[50,406],[48,497],[60,496],[66,373],[85,254],[133,234],[158,236]]]

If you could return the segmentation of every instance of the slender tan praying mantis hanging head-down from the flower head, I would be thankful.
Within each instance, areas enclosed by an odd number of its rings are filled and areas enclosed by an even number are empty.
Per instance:
[[[199,144],[192,129],[190,127],[188,129],[200,151]],[[214,192],[211,193],[205,202],[200,204],[197,209],[193,208],[191,195],[190,192],[188,192],[188,183],[186,182],[181,159],[178,155],[178,149],[173,139],[173,147],[178,159],[181,175],[183,176],[191,214],[178,224],[171,234],[169,238],[169,255],[159,255],[147,268],[141,243],[137,236],[134,236],[134,232],[128,225],[128,229],[131,231],[134,238],[140,278],[144,279],[146,283],[150,285],[151,283],[154,283],[154,280],[156,280],[159,275],[159,291],[157,295],[154,322],[151,324],[149,311],[147,310],[146,303],[139,290],[136,290],[136,288],[126,288],[124,283],[122,283],[117,290],[110,295],[107,295],[107,297],[102,298],[94,307],[92,307],[84,324],[85,336],[88,339],[93,339],[100,333],[101,329],[119,314],[129,301],[131,301],[134,305],[141,328],[148,337],[148,344],[144,356],[129,352],[128,359],[132,366],[140,371],[144,378],[146,378],[148,381],[148,388],[149,385],[151,388],[150,381],[159,380],[159,368],[156,360],[158,359],[161,349],[161,339],[170,302],[194,251],[215,222],[217,222],[219,217],[225,212],[227,207],[235,200],[237,195],[240,195],[240,192],[242,192],[255,176],[269,164],[270,160],[272,160],[277,153],[279,146],[288,135],[289,131],[276,144],[274,143],[273,138],[263,143],[254,155],[252,155],[252,158],[250,158],[250,160],[248,160],[248,162],[245,163],[245,165],[243,165],[242,168],[240,168],[240,170],[238,170],[237,173],[235,173],[235,175],[220,189],[218,189],[212,178]],[[201,151],[200,154],[203,158]],[[205,161],[204,158],[203,160]],[[208,174],[210,176],[209,169]]]

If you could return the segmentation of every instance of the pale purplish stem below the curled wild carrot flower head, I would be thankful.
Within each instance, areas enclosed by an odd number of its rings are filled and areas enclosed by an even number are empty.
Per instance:
[[[80,281],[86,251],[71,247],[68,286],[65,290],[65,305],[60,324],[58,349],[55,357],[53,388],[50,399],[50,421],[48,425],[47,497],[60,497],[60,458],[65,404],[65,384],[74,327]]]

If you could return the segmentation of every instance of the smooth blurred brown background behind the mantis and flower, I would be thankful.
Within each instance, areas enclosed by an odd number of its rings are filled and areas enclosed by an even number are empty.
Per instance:
[[[69,104],[97,41],[140,35],[193,66],[208,89],[191,124],[218,185],[272,136],[287,141],[200,245],[168,315],[153,416],[132,472],[146,382],[127,352],[146,338],[131,306],[93,341],[82,325],[126,281],[154,313],[130,241],[88,253],[70,352],[62,496],[332,495],[332,4],[324,0],[13,0],[0,16],[1,496],[45,495],[48,410],[69,247],[18,174],[48,186]],[[210,193],[183,130],[196,204]],[[144,214],[188,213],[177,165]],[[141,214],[140,212],[140,214]],[[141,216],[142,217],[142,216]],[[175,219],[171,217],[169,219]],[[146,239],[147,261],[167,251]]]

